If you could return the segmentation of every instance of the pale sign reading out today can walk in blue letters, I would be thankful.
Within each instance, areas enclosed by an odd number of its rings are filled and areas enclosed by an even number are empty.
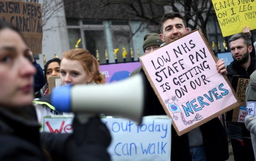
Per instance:
[[[73,118],[47,116],[44,132],[72,133]],[[146,116],[142,124],[123,118],[102,119],[111,133],[108,153],[112,161],[170,161],[172,119],[167,116]]]

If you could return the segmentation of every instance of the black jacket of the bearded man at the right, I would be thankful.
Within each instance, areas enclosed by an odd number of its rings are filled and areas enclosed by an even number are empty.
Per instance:
[[[253,71],[255,71],[255,58],[251,58],[251,64],[247,71],[241,65],[236,62],[231,62],[230,65],[227,65],[227,78],[232,82],[233,75],[244,75],[250,76]],[[250,132],[246,129],[244,123],[241,122],[232,122],[233,110],[227,112],[227,137],[233,138],[236,140],[242,140],[243,137],[250,137]]]

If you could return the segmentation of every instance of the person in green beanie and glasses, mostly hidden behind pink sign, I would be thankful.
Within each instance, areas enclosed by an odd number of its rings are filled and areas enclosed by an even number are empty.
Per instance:
[[[154,51],[157,48],[159,48],[161,44],[163,44],[163,41],[161,40],[159,34],[156,34],[156,33],[145,34],[144,42],[143,42],[143,51],[145,52],[145,54],[148,54],[151,51]],[[142,66],[132,71],[130,74],[130,77],[134,76],[137,73],[140,73],[141,68]]]

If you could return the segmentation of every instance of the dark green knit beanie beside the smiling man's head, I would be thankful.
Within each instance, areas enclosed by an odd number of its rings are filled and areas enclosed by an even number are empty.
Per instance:
[[[159,34],[145,34],[143,42],[143,51],[145,52],[145,49],[148,46],[160,46],[161,44],[163,44],[163,41],[160,39]]]

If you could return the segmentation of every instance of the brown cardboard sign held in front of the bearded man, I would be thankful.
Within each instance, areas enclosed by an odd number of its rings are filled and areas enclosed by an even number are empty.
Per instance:
[[[231,85],[236,91],[236,94],[241,102],[240,107],[236,107],[233,110],[232,121],[233,122],[244,122],[246,116],[246,101],[245,91],[248,83],[250,82],[250,76],[233,76]]]

